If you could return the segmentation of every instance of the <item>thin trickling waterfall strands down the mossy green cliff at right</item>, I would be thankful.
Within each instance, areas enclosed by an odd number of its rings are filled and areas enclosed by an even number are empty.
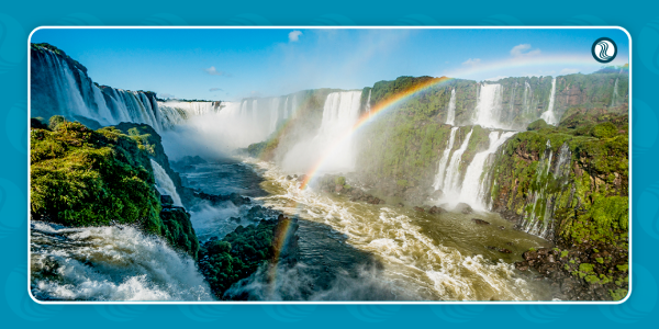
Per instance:
[[[556,200],[567,192],[567,178],[570,173],[571,152],[565,143],[558,152],[556,166],[551,169],[551,143],[547,140],[547,150],[538,161],[536,181],[524,205],[522,229],[528,234],[550,238],[554,235],[554,209]]]

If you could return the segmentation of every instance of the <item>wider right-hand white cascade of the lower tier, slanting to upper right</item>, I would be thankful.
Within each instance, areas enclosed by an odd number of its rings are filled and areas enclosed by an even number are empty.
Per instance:
[[[487,150],[477,154],[467,167],[465,179],[462,180],[462,188],[460,190],[460,202],[465,202],[471,205],[476,209],[484,209],[483,204],[484,191],[483,189],[483,173],[485,168],[485,161],[490,159],[490,155],[494,154],[500,146],[502,146],[509,138],[515,135],[514,132],[490,133],[490,146]]]

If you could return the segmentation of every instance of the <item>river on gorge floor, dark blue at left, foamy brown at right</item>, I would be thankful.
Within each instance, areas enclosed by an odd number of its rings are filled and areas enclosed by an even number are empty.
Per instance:
[[[514,230],[492,213],[431,215],[411,207],[350,202],[347,196],[300,190],[272,163],[245,158],[188,167],[183,180],[208,193],[241,192],[300,218],[294,266],[275,280],[256,273],[227,296],[321,300],[543,300],[550,287],[514,270],[532,247],[549,243]],[[217,182],[224,182],[219,184]],[[197,209],[200,237],[223,236],[245,209]],[[490,222],[476,225],[471,218]],[[503,227],[503,229],[501,229]],[[488,246],[505,248],[502,253]],[[269,276],[268,276],[269,277]]]

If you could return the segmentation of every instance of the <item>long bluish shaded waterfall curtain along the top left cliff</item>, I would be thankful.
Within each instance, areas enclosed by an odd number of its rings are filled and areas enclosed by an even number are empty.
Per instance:
[[[220,104],[158,103],[153,92],[98,86],[69,60],[45,47],[31,50],[31,115],[44,118],[63,115],[91,128],[121,122],[143,123],[161,132]]]

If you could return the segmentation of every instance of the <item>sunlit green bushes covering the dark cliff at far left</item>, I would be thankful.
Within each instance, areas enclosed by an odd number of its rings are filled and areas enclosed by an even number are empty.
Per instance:
[[[32,218],[71,227],[136,225],[197,259],[189,215],[160,212],[143,137],[114,127],[91,131],[60,116],[49,126],[30,134]]]

